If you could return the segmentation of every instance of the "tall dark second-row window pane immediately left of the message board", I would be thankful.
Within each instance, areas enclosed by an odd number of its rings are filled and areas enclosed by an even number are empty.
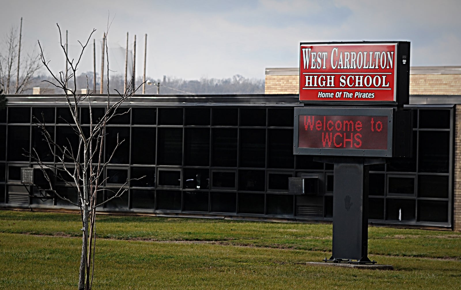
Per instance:
[[[268,159],[269,168],[290,168],[295,166],[293,155],[293,130],[268,130]]]

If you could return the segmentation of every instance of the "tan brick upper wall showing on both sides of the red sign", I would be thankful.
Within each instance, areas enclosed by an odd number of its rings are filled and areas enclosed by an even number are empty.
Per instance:
[[[299,75],[266,75],[266,94],[299,94]],[[410,95],[460,95],[461,74],[410,74]]]

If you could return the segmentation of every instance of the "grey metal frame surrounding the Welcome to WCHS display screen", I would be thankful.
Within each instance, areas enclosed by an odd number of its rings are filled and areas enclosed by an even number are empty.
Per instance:
[[[331,107],[304,107],[295,108],[294,112],[293,154],[314,156],[356,156],[356,157],[392,157],[393,154],[393,108],[331,108]],[[351,149],[351,148],[304,148],[299,147],[299,118],[303,115],[332,115],[332,116],[386,116],[387,149]]]

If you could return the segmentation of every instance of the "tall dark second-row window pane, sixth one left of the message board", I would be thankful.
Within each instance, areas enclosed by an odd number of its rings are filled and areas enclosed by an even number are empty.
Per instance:
[[[131,164],[155,164],[155,128],[131,128]]]

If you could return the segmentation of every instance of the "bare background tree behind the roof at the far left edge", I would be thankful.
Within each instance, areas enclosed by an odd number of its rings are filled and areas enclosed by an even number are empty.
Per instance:
[[[22,63],[19,63],[22,48],[18,29],[14,27],[5,36],[3,46],[0,49],[0,88],[7,95],[20,94],[28,88],[41,67],[39,55],[32,51],[27,57],[22,57]]]

